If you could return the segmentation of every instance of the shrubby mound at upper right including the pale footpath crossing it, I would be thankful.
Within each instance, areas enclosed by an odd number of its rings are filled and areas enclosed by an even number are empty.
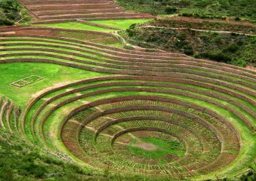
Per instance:
[[[222,23],[196,24],[154,20],[130,26],[121,34],[131,43],[143,47],[157,47],[236,66],[255,65],[256,36],[241,34],[244,29],[247,33],[255,31],[252,27],[234,28]]]

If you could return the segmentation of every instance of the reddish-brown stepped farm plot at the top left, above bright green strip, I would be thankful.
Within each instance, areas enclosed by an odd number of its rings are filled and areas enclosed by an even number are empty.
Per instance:
[[[148,13],[127,12],[113,0],[20,0],[37,17],[36,23],[57,23],[76,20],[143,19]]]

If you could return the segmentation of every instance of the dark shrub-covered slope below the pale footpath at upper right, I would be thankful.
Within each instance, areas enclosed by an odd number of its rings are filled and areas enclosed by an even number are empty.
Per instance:
[[[163,23],[166,26],[167,21]],[[170,21],[170,23],[173,22]],[[154,24],[154,22],[149,24]],[[255,36],[193,31],[191,29],[140,28],[140,26],[143,24],[132,25],[126,31],[130,41],[146,42],[140,46],[159,47],[192,55],[195,58],[206,58],[237,66],[244,67],[247,63],[256,66]],[[164,25],[159,24],[159,26]]]

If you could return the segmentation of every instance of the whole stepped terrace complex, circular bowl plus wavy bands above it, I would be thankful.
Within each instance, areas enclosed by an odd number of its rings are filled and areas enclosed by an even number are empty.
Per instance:
[[[246,153],[255,145],[246,140],[255,136],[255,72],[37,30],[2,30],[0,63],[56,63],[112,74],[34,96],[18,126],[30,142],[121,174],[233,174],[254,160]]]

